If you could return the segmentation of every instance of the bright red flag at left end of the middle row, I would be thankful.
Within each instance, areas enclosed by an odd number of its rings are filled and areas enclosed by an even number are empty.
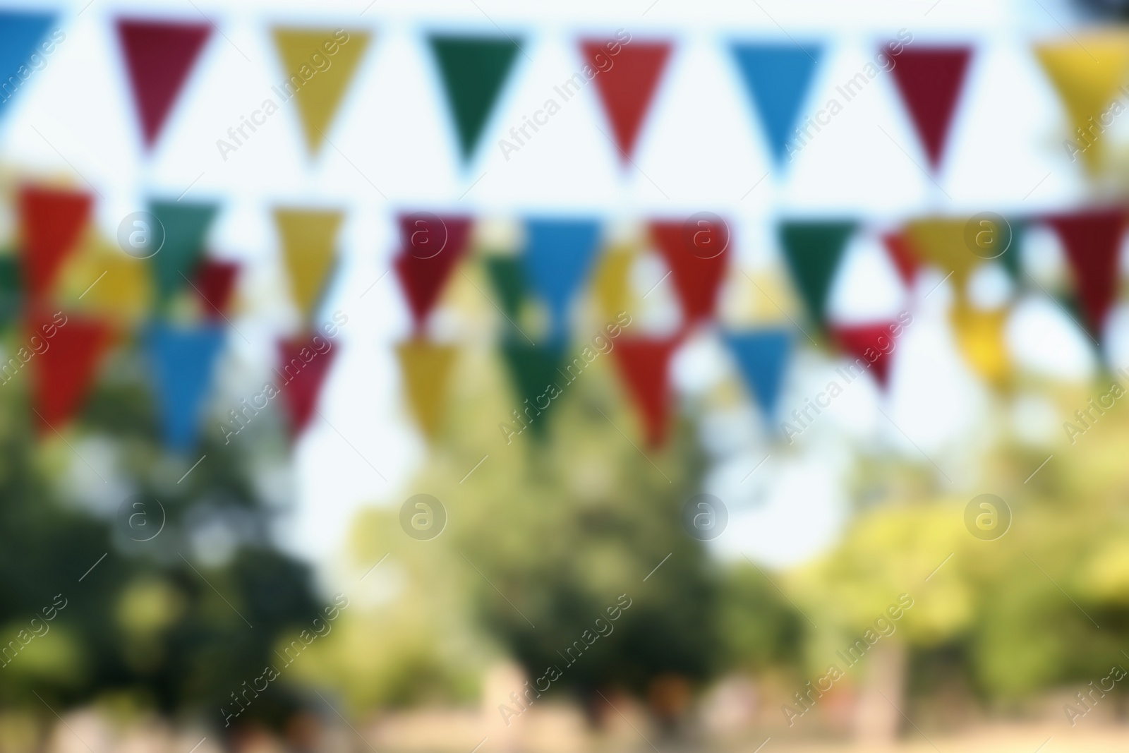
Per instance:
[[[19,192],[20,260],[28,297],[51,288],[67,254],[90,219],[90,194],[26,186]]]

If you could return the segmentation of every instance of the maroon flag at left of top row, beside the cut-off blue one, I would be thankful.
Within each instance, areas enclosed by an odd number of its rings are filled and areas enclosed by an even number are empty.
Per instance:
[[[160,135],[209,34],[210,24],[117,20],[117,38],[147,149],[151,149]]]

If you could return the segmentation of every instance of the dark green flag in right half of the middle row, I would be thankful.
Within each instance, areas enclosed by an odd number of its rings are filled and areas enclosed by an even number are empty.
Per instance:
[[[854,231],[855,222],[849,220],[780,224],[785,260],[812,319],[817,324],[822,325],[826,318],[831,281]]]

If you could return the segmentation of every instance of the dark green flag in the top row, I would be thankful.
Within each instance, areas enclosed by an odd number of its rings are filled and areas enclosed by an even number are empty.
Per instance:
[[[431,52],[458,132],[463,158],[474,154],[502,84],[518,53],[509,37],[432,35]]]

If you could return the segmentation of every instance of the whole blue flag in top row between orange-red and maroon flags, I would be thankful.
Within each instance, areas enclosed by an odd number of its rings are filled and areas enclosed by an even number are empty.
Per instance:
[[[733,46],[737,68],[768,134],[777,165],[787,156],[796,116],[807,96],[812,73],[822,53],[820,45],[744,44]]]

